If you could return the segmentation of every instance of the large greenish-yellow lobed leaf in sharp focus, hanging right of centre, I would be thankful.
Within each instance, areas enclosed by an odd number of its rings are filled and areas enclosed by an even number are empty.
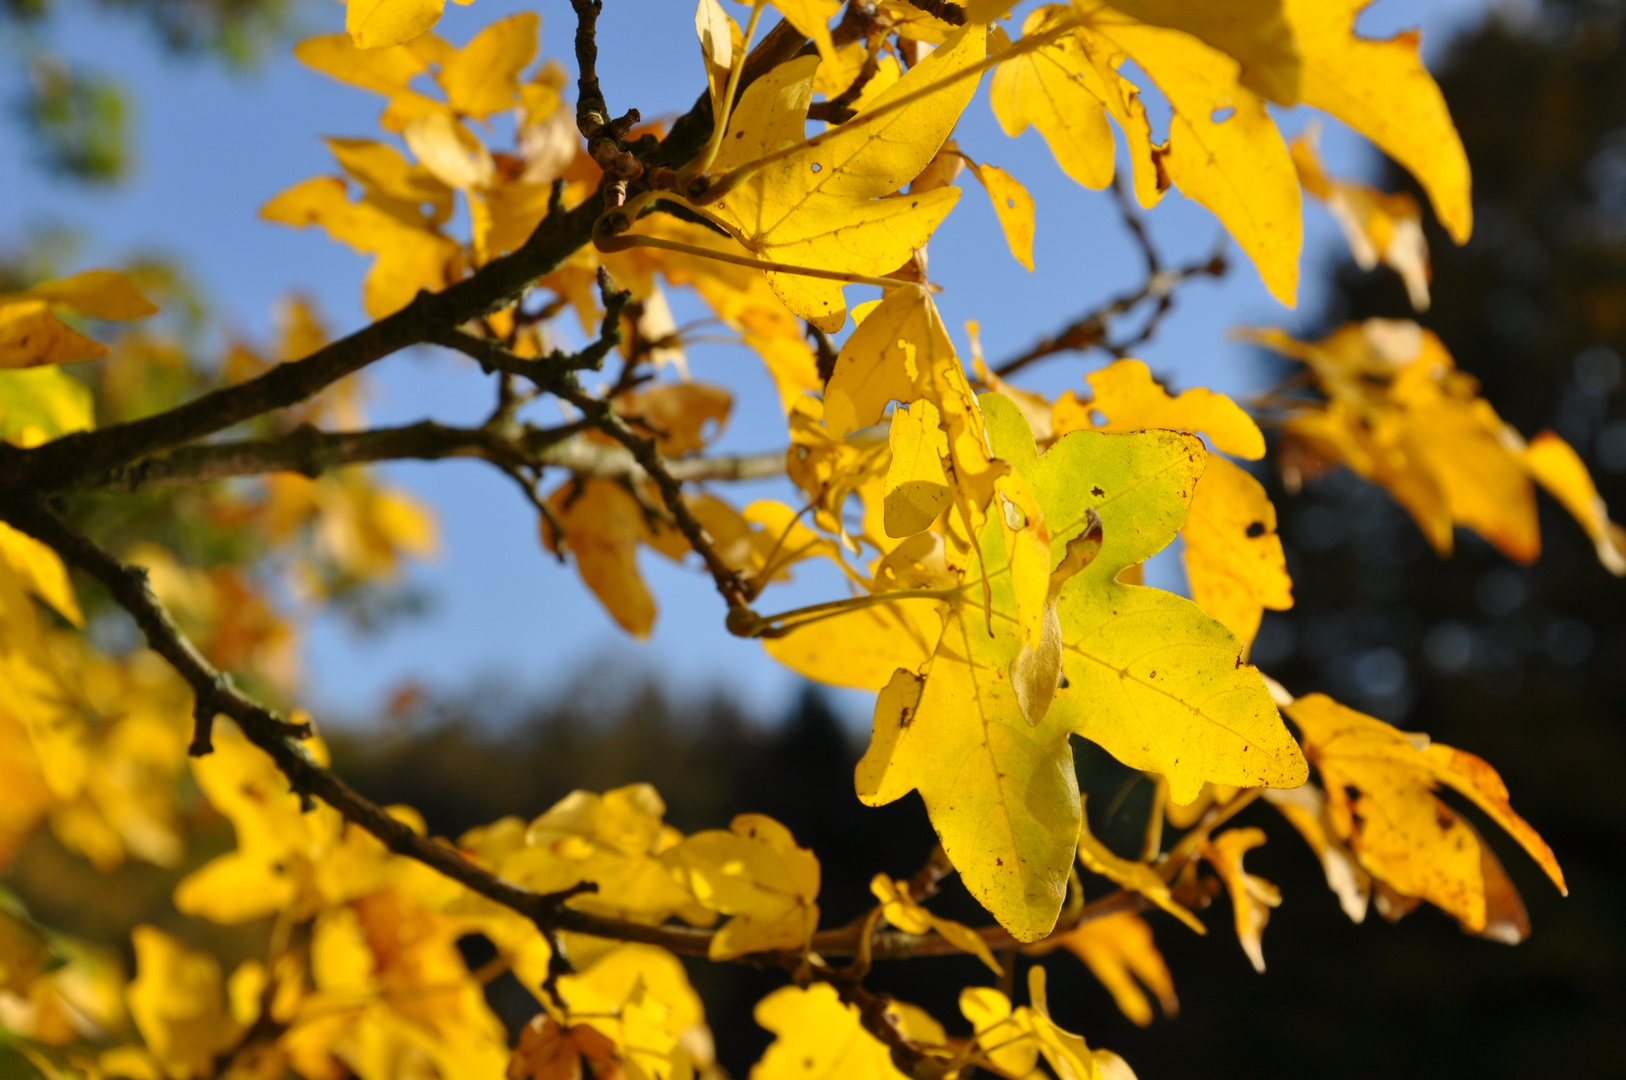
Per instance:
[[[1080,836],[1068,734],[1164,773],[1179,802],[1203,781],[1291,787],[1306,766],[1229,631],[1187,600],[1114,581],[1172,540],[1202,446],[1164,431],[1081,431],[1039,457],[1013,403],[990,394],[982,410],[993,452],[1044,511],[1057,566],[1099,520],[1099,555],[1054,602],[1067,686],[1031,722],[1011,685],[1024,639],[990,517],[977,535],[985,576],[950,602],[928,672],[899,670],[881,691],[855,781],[870,805],[919,789],[971,895],[1018,940],[1036,940],[1055,924]]]

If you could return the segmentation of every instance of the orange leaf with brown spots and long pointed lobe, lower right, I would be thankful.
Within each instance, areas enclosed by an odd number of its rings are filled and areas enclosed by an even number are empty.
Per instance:
[[[1514,813],[1501,776],[1480,758],[1398,732],[1325,695],[1299,698],[1286,712],[1320,771],[1333,834],[1393,891],[1442,908],[1473,934],[1486,930],[1491,901],[1506,891],[1501,867],[1485,869],[1478,833],[1433,794],[1437,784],[1485,810],[1566,891],[1553,851]]]

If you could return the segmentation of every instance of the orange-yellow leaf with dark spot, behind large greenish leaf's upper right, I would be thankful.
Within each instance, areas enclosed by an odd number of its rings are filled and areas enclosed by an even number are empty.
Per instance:
[[[1223,457],[1210,457],[1180,529],[1185,579],[1197,607],[1252,644],[1265,608],[1293,607],[1276,507],[1265,486]]]

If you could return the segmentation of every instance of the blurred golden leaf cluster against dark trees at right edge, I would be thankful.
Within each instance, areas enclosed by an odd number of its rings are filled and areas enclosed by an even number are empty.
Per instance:
[[[1281,330],[1246,337],[1304,363],[1325,403],[1291,402],[1280,467],[1289,490],[1333,465],[1380,483],[1439,555],[1462,525],[1517,563],[1541,553],[1532,481],[1567,509],[1611,574],[1626,574],[1626,532],[1574,449],[1551,431],[1530,442],[1478,395],[1431,332],[1413,322],[1351,322],[1320,342]]]

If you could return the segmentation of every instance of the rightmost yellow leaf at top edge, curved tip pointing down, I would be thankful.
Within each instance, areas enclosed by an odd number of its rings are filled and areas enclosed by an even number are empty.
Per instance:
[[[1299,99],[1361,132],[1418,177],[1459,244],[1473,231],[1468,156],[1446,98],[1418,54],[1419,36],[1354,34],[1371,0],[1285,0],[1302,59]]]

